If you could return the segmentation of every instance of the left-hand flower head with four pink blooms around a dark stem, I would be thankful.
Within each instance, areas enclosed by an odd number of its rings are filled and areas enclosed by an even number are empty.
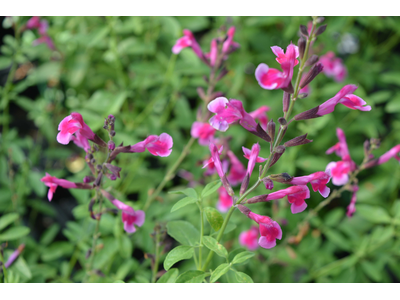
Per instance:
[[[104,129],[108,131],[110,140],[106,143],[98,135],[96,135],[91,128],[84,122],[81,114],[77,112],[71,113],[71,115],[65,117],[59,124],[57,134],[57,141],[60,144],[68,144],[71,140],[80,148],[83,148],[86,152],[86,163],[92,173],[90,176],[86,176],[83,179],[83,183],[71,182],[65,179],[60,179],[46,173],[41,181],[49,187],[48,199],[51,201],[53,195],[56,192],[58,186],[66,189],[97,189],[100,190],[101,194],[107,198],[118,210],[122,211],[122,222],[124,223],[124,229],[128,233],[136,231],[136,226],[142,226],[145,219],[145,213],[141,210],[134,210],[129,205],[115,199],[109,192],[102,189],[102,180],[107,177],[110,180],[116,180],[120,178],[120,167],[111,164],[111,162],[117,157],[119,153],[136,153],[144,152],[146,149],[154,156],[169,156],[172,152],[172,137],[167,133],[162,133],[160,136],[150,135],[144,141],[136,143],[134,145],[123,146],[122,144],[118,147],[115,146],[112,138],[115,136],[114,131],[115,117],[109,115],[105,119]],[[90,145],[89,141],[93,142]],[[97,151],[105,149],[108,152],[107,159],[102,164],[96,164],[94,155]],[[96,165],[96,166],[95,166]],[[99,219],[103,212],[99,214],[93,213],[93,205],[97,198],[92,199],[89,204],[89,211],[93,219]]]

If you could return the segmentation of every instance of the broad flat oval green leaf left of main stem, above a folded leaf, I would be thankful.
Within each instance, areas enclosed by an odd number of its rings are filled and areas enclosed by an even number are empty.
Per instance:
[[[168,222],[167,232],[182,245],[195,246],[200,240],[199,231],[186,221]]]

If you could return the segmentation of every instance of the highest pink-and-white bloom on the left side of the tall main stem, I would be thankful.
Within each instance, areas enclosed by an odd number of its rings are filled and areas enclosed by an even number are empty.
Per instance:
[[[294,66],[299,63],[296,59],[299,56],[298,48],[290,44],[286,49],[286,54],[278,46],[273,46],[271,49],[278,56],[276,60],[281,64],[283,72],[262,63],[256,69],[256,79],[259,85],[267,90],[286,88],[292,80]]]

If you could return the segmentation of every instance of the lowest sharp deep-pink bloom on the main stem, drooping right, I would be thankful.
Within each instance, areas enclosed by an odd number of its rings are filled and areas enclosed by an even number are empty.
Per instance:
[[[276,239],[282,239],[282,229],[279,224],[273,221],[270,217],[260,216],[250,212],[248,217],[256,221],[260,225],[260,239],[258,244],[265,248],[271,249],[276,246]]]

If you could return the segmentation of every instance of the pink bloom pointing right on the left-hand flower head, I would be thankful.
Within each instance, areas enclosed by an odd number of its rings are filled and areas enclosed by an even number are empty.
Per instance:
[[[161,133],[160,136],[150,135],[144,141],[130,146],[129,152],[144,152],[149,150],[154,156],[166,157],[172,152],[173,140],[167,133]]]

